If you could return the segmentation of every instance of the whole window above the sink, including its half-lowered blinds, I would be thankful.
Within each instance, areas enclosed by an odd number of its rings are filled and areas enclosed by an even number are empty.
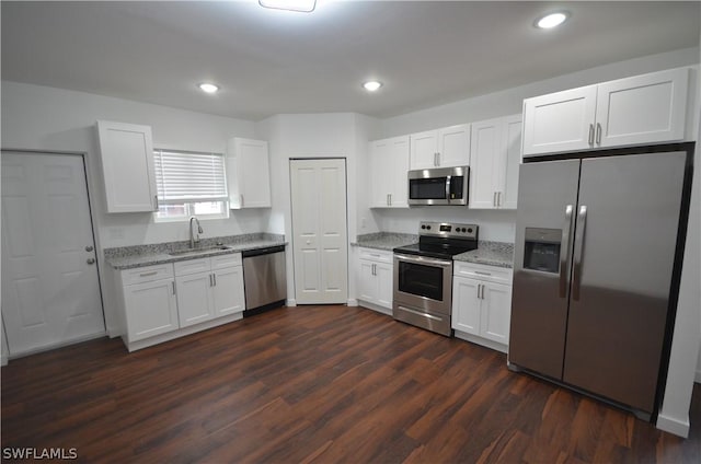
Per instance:
[[[229,217],[223,155],[156,150],[157,222]]]

